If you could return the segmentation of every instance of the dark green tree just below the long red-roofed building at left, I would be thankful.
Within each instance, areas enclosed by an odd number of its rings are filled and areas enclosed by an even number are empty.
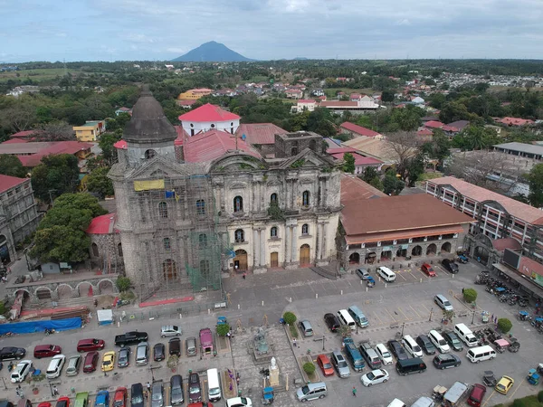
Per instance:
[[[51,195],[74,192],[78,184],[78,159],[70,154],[44,156],[42,164],[35,166],[32,171],[34,195],[43,202],[49,201]]]

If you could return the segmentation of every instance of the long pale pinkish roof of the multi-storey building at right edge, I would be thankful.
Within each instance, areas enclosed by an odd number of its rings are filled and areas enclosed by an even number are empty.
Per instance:
[[[442,178],[434,178],[427,182],[429,185],[451,185],[460,194],[477,202],[496,201],[503,206],[507,212],[514,217],[529,222],[532,224],[543,225],[543,211],[534,208],[529,204],[522,204],[519,201],[497,194],[481,186],[470,184],[462,179],[454,178],[453,176],[443,176]]]

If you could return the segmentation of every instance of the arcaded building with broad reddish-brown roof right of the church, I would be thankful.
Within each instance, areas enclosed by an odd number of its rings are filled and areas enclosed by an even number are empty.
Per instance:
[[[344,268],[462,249],[473,220],[426,194],[386,196],[356,175],[341,177],[338,258]]]

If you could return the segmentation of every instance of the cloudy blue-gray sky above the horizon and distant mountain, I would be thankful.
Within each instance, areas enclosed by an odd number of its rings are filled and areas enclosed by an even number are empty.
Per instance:
[[[0,0],[0,62],[543,59],[543,0]]]

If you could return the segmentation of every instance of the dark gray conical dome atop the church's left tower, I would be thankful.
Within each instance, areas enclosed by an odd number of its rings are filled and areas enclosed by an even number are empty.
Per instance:
[[[176,128],[166,118],[148,86],[144,86],[132,108],[132,118],[124,129],[123,139],[132,143],[157,143],[173,141],[176,137]]]

